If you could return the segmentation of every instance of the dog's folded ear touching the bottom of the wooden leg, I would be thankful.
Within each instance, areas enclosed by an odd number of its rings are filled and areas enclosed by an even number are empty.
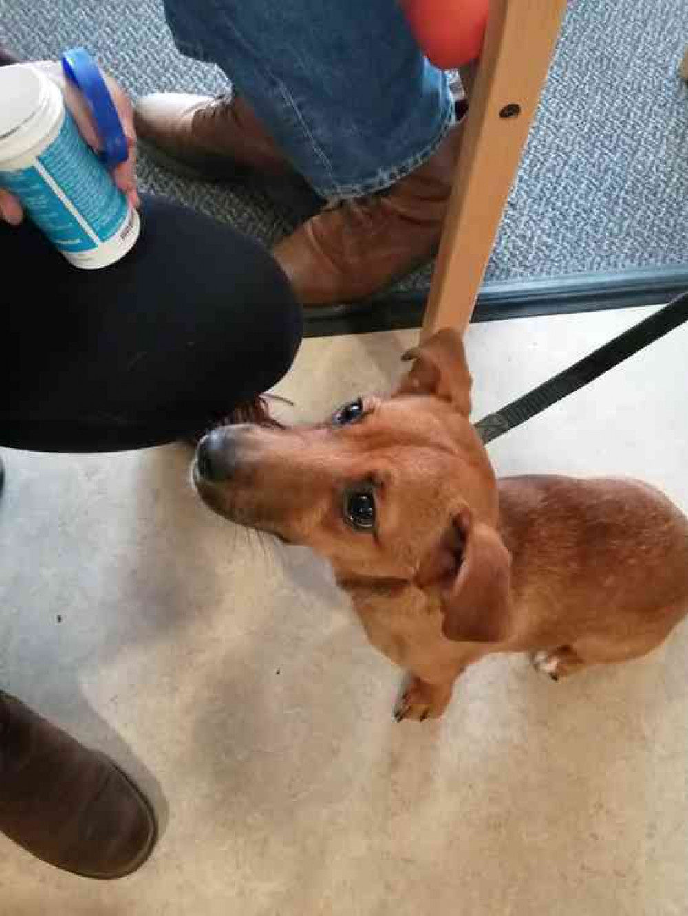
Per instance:
[[[412,359],[413,365],[401,379],[399,394],[436,395],[451,400],[465,417],[470,414],[472,379],[458,332],[451,328],[438,331],[401,358]]]

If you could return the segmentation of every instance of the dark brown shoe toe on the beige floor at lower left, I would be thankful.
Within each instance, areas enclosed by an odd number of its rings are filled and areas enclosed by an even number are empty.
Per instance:
[[[0,691],[0,831],[83,878],[124,878],[158,836],[152,808],[108,758]]]

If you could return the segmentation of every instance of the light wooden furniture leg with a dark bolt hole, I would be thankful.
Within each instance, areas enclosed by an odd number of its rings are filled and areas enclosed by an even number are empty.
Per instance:
[[[490,0],[421,336],[464,332],[556,45],[566,0]]]

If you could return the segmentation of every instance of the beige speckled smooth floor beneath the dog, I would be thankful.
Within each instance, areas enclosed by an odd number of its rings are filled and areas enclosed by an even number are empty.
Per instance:
[[[642,314],[474,326],[475,416]],[[413,339],[308,342],[280,390],[320,416],[388,388]],[[688,510],[687,346],[494,443],[497,467],[635,474]],[[131,769],[163,834],[113,884],[0,837],[2,916],[688,911],[688,624],[558,685],[486,660],[441,723],[396,725],[398,673],[327,571],[204,510],[188,459],[5,453],[0,682]]]

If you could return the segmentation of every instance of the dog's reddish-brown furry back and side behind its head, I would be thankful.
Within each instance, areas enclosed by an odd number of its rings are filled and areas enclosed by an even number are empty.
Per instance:
[[[499,481],[524,648],[632,658],[688,612],[688,519],[634,480],[532,475]]]

